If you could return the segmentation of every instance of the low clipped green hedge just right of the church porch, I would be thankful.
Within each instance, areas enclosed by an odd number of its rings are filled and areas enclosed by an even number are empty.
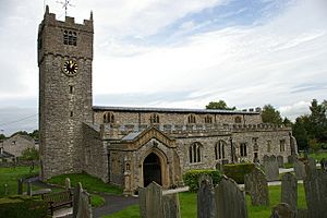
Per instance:
[[[198,179],[202,174],[210,175],[214,184],[218,184],[221,180],[221,174],[218,170],[190,170],[183,175],[185,185],[190,186],[191,192],[198,190]]]

